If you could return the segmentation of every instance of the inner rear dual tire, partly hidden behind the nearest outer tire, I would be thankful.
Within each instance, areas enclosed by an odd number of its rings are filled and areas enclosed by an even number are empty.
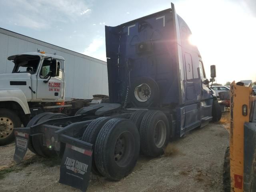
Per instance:
[[[106,122],[110,120],[109,117],[100,117],[95,120],[93,120],[86,130],[84,131],[84,134],[82,136],[82,141],[88,142],[90,144],[93,144],[93,151],[94,151],[94,146],[95,142],[98,136],[98,133],[100,132],[101,128],[104,126]],[[100,174],[100,172],[97,170],[95,161],[94,161],[94,154],[92,154],[92,172],[94,174]]]

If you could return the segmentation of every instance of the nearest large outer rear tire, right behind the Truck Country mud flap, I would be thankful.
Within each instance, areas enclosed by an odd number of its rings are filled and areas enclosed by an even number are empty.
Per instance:
[[[140,136],[128,119],[113,118],[100,130],[94,156],[98,171],[110,180],[120,180],[132,172],[140,153]]]

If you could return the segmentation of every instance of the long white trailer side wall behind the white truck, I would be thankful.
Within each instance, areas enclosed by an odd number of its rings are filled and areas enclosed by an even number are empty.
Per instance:
[[[11,73],[14,64],[8,56],[37,49],[65,58],[65,98],[90,99],[108,95],[108,72],[104,61],[0,28],[0,74]]]

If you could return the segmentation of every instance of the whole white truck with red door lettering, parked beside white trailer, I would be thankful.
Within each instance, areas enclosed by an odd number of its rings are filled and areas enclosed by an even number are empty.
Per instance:
[[[13,128],[42,112],[74,115],[90,100],[65,102],[65,60],[43,51],[9,56],[11,74],[0,74],[0,145],[14,140]],[[83,82],[81,82],[83,83]]]

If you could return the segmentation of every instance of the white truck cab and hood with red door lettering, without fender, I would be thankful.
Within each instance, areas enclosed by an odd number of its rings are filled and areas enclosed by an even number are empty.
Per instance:
[[[0,74],[0,90],[19,89],[27,102],[64,101],[65,60],[61,56],[30,52],[8,57],[12,74]]]

